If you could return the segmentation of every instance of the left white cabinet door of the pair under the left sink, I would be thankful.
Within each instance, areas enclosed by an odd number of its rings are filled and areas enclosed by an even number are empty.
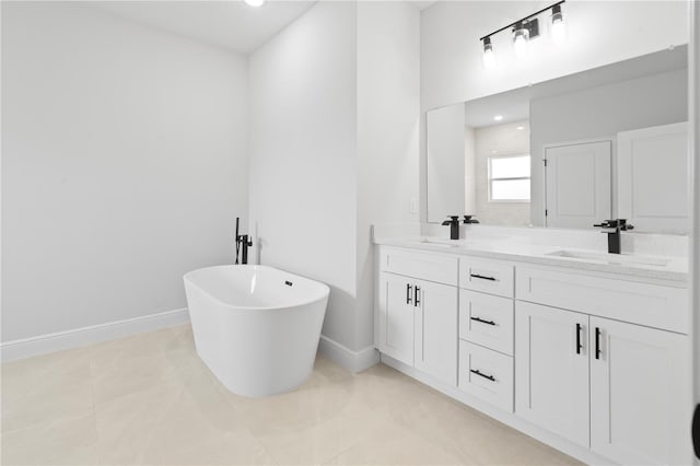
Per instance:
[[[378,349],[383,353],[413,365],[413,284],[393,273],[380,279]]]

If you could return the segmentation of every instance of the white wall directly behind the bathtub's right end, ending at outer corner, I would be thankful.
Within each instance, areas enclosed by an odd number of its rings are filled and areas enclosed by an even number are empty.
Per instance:
[[[319,2],[250,56],[250,228],[260,264],[327,283],[354,346],[357,10]]]

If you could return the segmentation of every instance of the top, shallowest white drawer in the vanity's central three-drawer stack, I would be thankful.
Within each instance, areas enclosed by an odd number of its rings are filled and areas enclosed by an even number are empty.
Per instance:
[[[459,259],[459,287],[513,298],[513,266],[498,260]]]

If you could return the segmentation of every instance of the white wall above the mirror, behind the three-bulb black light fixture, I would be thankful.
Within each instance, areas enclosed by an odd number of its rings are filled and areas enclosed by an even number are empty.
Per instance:
[[[421,114],[430,108],[495,94],[688,42],[688,3],[668,1],[568,1],[569,39],[555,47],[545,35],[520,62],[508,32],[493,38],[499,68],[481,65],[479,37],[549,3],[541,1],[441,1],[421,12]],[[424,166],[424,120],[421,121]],[[421,211],[424,218],[424,173]]]

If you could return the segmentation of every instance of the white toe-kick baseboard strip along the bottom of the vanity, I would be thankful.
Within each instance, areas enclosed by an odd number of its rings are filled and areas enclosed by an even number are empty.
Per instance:
[[[390,358],[384,353],[381,354],[382,363],[388,365],[389,368],[394,368],[399,372],[408,375],[411,378],[416,378],[417,381],[428,385],[436,389],[438,392],[443,393],[444,395],[454,398],[463,404],[469,406],[470,408],[480,411],[488,417],[495,419],[499,422],[509,426],[525,435],[529,435],[533,439],[536,439],[555,450],[559,450],[567,455],[570,455],[587,465],[609,465],[611,462],[606,459],[599,455],[596,455],[591,450],[572,443],[559,435],[556,435],[545,429],[541,429],[530,422],[515,416],[514,412],[503,411],[488,403],[470,396],[469,394],[462,392],[459,388],[448,385],[444,382],[438,381],[430,375],[425,374],[422,371],[419,371],[416,368],[407,365],[400,361],[397,361],[394,358]]]

